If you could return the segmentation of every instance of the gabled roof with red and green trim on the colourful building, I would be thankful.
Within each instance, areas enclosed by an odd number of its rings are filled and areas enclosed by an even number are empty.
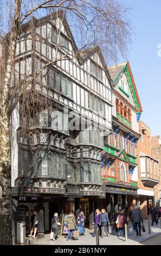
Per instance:
[[[134,78],[132,75],[132,71],[129,65],[129,62],[123,62],[114,66],[111,66],[108,68],[110,77],[112,78],[113,82],[114,82],[114,87],[117,84],[117,81],[119,80],[121,74],[123,71],[125,71],[126,74],[126,78],[128,80],[128,86],[134,101],[134,110],[136,112],[142,112],[143,109],[141,107],[141,103],[140,103],[140,99],[139,99],[139,95],[137,92],[137,87],[135,86],[135,82],[134,82]],[[114,93],[116,92],[116,90],[114,89]],[[118,94],[118,92],[116,92],[116,94]],[[121,96],[121,94],[120,94]]]

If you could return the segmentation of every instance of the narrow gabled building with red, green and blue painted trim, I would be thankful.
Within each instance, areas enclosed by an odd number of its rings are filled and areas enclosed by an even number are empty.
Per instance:
[[[111,217],[118,205],[128,211],[138,189],[138,121],[142,112],[128,62],[108,68],[113,79],[113,133],[105,138],[102,180],[106,185],[107,210]]]

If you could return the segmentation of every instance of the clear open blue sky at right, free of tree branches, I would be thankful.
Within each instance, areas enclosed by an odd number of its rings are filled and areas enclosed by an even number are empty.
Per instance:
[[[152,136],[161,135],[161,1],[121,1],[133,8],[130,19],[135,35],[128,60],[143,108],[141,120]]]

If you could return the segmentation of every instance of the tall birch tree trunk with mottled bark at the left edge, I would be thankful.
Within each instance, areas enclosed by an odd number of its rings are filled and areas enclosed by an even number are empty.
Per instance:
[[[19,29],[21,0],[15,1],[15,15],[9,35],[9,50],[3,93],[1,95],[0,115],[0,186],[2,195],[0,199],[0,245],[12,244],[11,225],[11,148],[10,148],[10,102],[9,89],[13,73],[14,59],[16,54],[16,42]]]

